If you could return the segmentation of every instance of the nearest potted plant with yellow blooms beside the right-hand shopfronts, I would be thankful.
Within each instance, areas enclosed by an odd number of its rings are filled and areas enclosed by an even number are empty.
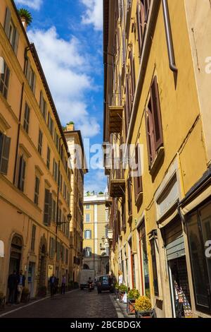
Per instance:
[[[146,296],[140,296],[135,302],[136,318],[153,318],[155,311],[152,310],[151,300]]]

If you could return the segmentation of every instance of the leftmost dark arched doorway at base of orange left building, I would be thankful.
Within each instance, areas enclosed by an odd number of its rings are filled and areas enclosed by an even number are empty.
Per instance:
[[[8,269],[8,275],[20,271],[20,261],[22,256],[23,240],[20,235],[14,235],[11,242],[11,256]]]

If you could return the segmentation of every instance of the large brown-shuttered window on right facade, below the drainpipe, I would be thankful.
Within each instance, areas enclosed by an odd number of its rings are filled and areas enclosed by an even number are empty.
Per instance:
[[[163,146],[160,98],[156,76],[151,85],[151,97],[146,109],[146,136],[148,145],[148,162],[151,169],[151,166],[158,155],[159,148]]]

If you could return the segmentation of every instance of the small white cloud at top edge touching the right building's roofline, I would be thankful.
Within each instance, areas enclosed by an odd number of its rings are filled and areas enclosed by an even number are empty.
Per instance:
[[[103,29],[103,0],[81,0],[87,7],[82,23],[93,24],[95,30]]]

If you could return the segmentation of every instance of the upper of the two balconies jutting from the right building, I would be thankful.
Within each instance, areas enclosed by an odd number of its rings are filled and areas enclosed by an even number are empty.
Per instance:
[[[123,106],[109,106],[109,134],[122,132],[122,114]]]

